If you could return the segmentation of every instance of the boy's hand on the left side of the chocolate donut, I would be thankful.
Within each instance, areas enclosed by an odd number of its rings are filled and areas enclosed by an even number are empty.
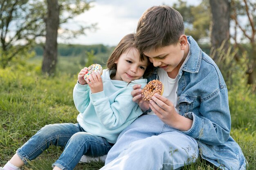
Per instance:
[[[145,102],[141,97],[141,85],[135,84],[133,87],[133,91],[131,92],[132,101],[136,102],[142,111],[146,111],[149,109],[148,102]]]

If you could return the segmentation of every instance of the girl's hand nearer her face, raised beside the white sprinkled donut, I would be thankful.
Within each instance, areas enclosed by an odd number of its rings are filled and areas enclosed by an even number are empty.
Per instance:
[[[99,72],[95,73],[92,71],[92,74],[89,76],[89,79],[86,79],[86,82],[90,86],[92,93],[103,91],[103,82]]]

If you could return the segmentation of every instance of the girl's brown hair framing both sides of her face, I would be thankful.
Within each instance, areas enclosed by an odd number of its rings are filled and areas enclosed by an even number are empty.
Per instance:
[[[107,67],[109,70],[112,69],[117,69],[117,64],[115,63],[119,57],[121,56],[122,53],[124,53],[126,50],[135,47],[135,34],[134,33],[130,33],[125,35],[121,41],[117,44],[116,48],[114,49],[114,51],[111,53],[110,57],[108,58],[107,61]],[[148,57],[145,57],[144,55],[142,55],[142,53],[140,53],[140,57],[139,57],[140,61],[143,60],[148,60],[148,66],[144,72],[143,77],[146,78],[149,75],[151,75],[152,73],[152,68],[153,68],[153,64],[149,61]]]

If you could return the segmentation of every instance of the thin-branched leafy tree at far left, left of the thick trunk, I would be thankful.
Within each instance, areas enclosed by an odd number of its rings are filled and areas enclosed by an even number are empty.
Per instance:
[[[44,13],[29,0],[0,1],[0,66],[25,56],[37,36],[43,35]]]

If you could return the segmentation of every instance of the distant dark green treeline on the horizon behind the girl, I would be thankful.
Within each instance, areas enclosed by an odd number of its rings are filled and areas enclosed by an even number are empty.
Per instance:
[[[86,52],[94,51],[94,55],[100,53],[111,53],[115,47],[105,46],[103,44],[81,45],[81,44],[58,44],[58,55],[60,56],[78,56]],[[36,55],[43,55],[43,46],[38,44],[34,47]]]

